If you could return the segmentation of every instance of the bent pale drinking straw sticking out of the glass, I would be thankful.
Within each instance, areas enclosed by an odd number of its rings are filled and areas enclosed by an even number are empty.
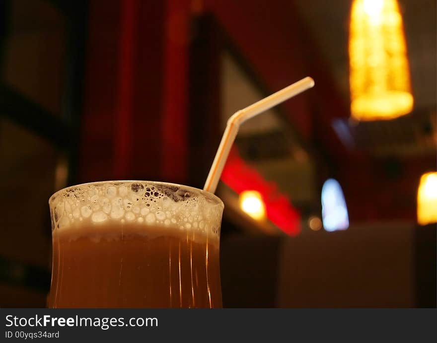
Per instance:
[[[229,155],[229,151],[232,143],[235,140],[235,136],[237,136],[238,129],[243,122],[255,117],[257,114],[271,109],[272,107],[292,98],[293,96],[307,90],[308,88],[311,88],[312,86],[314,86],[314,80],[311,77],[302,78],[290,86],[285,87],[280,91],[235,112],[227,121],[226,129],[224,130],[223,137],[221,137],[216,157],[214,158],[213,165],[211,166],[210,173],[208,174],[208,178],[203,189],[211,193],[216,192],[218,180],[220,179],[221,172],[223,171],[224,163]]]

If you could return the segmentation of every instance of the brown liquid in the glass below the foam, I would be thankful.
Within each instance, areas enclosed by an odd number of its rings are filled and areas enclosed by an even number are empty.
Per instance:
[[[53,231],[52,308],[221,307],[218,236],[141,224]]]

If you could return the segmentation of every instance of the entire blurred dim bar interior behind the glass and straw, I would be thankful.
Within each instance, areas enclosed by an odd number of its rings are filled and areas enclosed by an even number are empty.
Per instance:
[[[0,3],[1,307],[45,306],[51,194],[202,188],[307,75],[223,171],[223,305],[436,307],[435,0]]]

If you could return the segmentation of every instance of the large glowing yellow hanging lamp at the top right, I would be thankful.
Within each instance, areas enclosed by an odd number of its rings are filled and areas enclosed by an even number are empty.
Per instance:
[[[407,48],[397,0],[354,0],[349,65],[352,117],[393,119],[413,110]]]

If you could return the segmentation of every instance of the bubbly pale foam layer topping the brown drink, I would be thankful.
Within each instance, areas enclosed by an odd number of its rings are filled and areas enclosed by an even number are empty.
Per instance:
[[[138,223],[219,235],[223,203],[196,188],[150,181],[103,181],[65,188],[49,200],[52,230]]]

